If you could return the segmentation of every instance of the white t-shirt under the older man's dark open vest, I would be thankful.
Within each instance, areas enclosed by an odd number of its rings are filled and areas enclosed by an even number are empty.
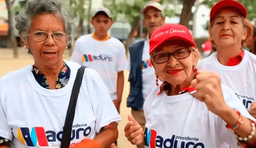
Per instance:
[[[154,86],[156,86],[156,75],[155,69],[150,62],[150,55],[149,55],[149,40],[144,41],[144,47],[142,52],[142,96],[144,101],[151,93]],[[128,61],[127,70],[130,71],[130,59]],[[162,83],[158,80],[159,84]]]

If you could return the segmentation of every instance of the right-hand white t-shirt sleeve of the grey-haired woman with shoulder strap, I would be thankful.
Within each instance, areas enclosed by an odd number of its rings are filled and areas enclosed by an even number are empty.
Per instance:
[[[100,75],[90,68],[86,68],[86,70],[92,74],[93,87],[88,87],[88,91],[90,92],[92,108],[96,116],[95,130],[99,133],[100,128],[112,122],[119,122],[121,118]]]

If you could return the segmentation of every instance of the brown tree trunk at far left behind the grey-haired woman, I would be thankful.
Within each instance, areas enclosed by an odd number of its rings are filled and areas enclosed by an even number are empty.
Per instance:
[[[9,30],[8,30],[8,37],[7,37],[7,47],[8,48],[13,48],[13,56],[14,58],[18,58],[18,49],[17,49],[17,42],[16,38],[14,36],[14,22],[13,22],[13,14],[12,14],[12,5],[10,0],[5,0],[7,10],[8,10],[8,25],[9,25]]]

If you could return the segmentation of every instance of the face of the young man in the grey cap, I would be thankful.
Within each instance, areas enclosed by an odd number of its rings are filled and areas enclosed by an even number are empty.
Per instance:
[[[92,20],[91,24],[93,25],[95,32],[99,35],[106,35],[109,28],[113,24],[113,21],[105,15],[96,15]]]

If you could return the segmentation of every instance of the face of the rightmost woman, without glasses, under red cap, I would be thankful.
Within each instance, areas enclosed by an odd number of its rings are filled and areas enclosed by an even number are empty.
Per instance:
[[[218,46],[241,44],[246,39],[247,30],[243,27],[242,17],[233,10],[223,9],[214,19],[210,37]]]

